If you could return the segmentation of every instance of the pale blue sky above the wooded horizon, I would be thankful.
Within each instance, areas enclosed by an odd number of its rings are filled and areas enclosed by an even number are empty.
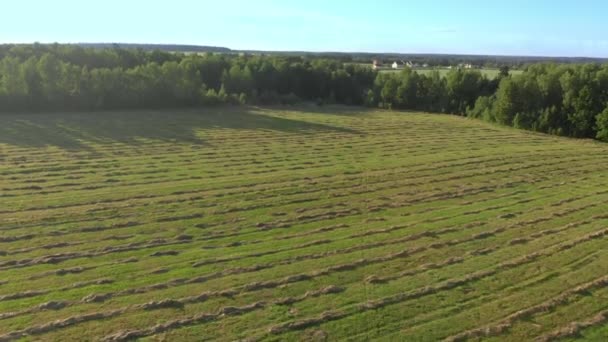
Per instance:
[[[0,43],[608,57],[605,0],[7,0]]]

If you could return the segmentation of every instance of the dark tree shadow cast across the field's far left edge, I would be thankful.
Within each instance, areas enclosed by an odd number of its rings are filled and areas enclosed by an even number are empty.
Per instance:
[[[87,149],[90,143],[142,144],[151,139],[205,144],[200,129],[266,129],[286,133],[356,131],[268,115],[253,107],[0,114],[0,144]]]

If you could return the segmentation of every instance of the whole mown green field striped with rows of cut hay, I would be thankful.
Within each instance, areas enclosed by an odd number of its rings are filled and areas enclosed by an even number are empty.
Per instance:
[[[435,114],[1,115],[0,341],[602,341],[607,165]]]

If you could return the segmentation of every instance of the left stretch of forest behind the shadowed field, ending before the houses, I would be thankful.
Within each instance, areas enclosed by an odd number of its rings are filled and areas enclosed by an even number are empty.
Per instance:
[[[0,49],[0,110],[363,104],[370,68],[301,57],[32,45]]]

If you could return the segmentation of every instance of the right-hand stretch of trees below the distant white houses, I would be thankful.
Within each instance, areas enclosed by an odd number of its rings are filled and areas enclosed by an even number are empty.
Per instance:
[[[479,71],[444,78],[378,74],[369,105],[467,115],[538,132],[608,141],[608,65],[535,64],[489,80]]]

